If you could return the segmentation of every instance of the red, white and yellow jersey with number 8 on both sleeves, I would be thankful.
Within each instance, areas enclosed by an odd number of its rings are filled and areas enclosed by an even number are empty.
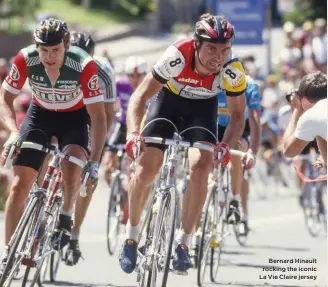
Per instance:
[[[153,76],[164,88],[189,99],[207,99],[219,92],[239,96],[246,90],[242,64],[234,55],[217,74],[201,77],[195,70],[195,41],[181,40],[169,46],[153,67]]]

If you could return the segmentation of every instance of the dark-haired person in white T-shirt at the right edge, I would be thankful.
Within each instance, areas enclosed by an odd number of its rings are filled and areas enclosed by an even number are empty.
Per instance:
[[[313,72],[303,77],[291,99],[293,115],[283,136],[283,153],[294,157],[316,139],[327,166],[327,75]]]

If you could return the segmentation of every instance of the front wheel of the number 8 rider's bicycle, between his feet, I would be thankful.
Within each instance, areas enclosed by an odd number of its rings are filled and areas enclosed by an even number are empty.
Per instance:
[[[168,240],[168,242],[166,242],[166,246],[165,246],[166,255],[165,255],[165,259],[164,259],[164,268],[163,268],[163,272],[162,272],[163,275],[162,275],[161,283],[158,285],[157,284],[158,282],[156,282],[157,277],[158,277],[158,272],[154,266],[155,263],[157,263],[157,262],[156,262],[156,260],[154,260],[152,272],[154,270],[156,270],[156,274],[155,274],[155,276],[152,274],[152,276],[151,276],[152,282],[151,282],[150,286],[166,287],[169,269],[170,269],[170,261],[171,261],[173,240],[174,240],[174,234],[175,234],[176,211],[177,211],[175,188],[170,189],[170,193],[168,193],[166,196],[167,196],[167,198],[166,198],[166,202],[164,205],[166,212],[163,212],[163,214],[161,216],[162,216],[162,219],[167,218],[167,212],[169,210],[170,218],[169,218],[169,223],[168,223],[169,231],[167,232],[167,234],[169,234],[169,240]],[[161,234],[162,228],[163,228],[163,222],[161,222],[161,229],[160,229],[159,234]],[[160,244],[157,247],[160,248]],[[156,280],[155,282],[153,282],[154,278]],[[155,285],[154,285],[154,283],[155,283]]]

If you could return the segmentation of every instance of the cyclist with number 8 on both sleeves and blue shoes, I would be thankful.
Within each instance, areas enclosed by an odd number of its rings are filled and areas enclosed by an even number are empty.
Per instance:
[[[210,130],[212,134],[200,129],[190,130],[184,134],[184,140],[215,146],[222,154],[222,166],[229,163],[229,146],[235,148],[242,135],[246,108],[244,69],[239,58],[231,52],[234,35],[234,27],[225,17],[207,13],[196,23],[193,38],[167,48],[129,101],[125,150],[130,157],[135,157],[136,142],[143,142],[144,136],[173,137],[174,129],[169,123],[156,121],[147,126],[154,119],[166,118],[179,125],[181,131],[192,126]],[[217,143],[216,95],[221,91],[227,95],[231,122],[222,142]],[[119,256],[120,266],[126,273],[132,273],[136,266],[140,217],[151,184],[162,165],[165,149],[161,144],[143,143],[136,171],[130,180],[129,220]],[[172,260],[173,269],[178,272],[184,273],[192,267],[189,245],[206,199],[213,156],[216,160],[217,155],[211,152],[189,149],[188,196],[183,199],[182,224],[176,234]]]

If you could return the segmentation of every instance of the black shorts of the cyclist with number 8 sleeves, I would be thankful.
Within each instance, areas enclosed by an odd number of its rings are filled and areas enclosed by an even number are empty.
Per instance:
[[[212,97],[204,100],[187,99],[173,94],[164,87],[152,98],[142,128],[157,118],[165,118],[172,121],[177,126],[179,132],[188,127],[200,126],[207,128],[217,136],[217,98]],[[173,126],[168,122],[160,120],[148,125],[142,132],[142,135],[172,139],[173,133]],[[189,130],[182,137],[185,141],[204,141],[216,144],[216,139],[209,132],[202,129]],[[163,151],[166,149],[161,144],[148,144],[148,146],[157,147]]]

